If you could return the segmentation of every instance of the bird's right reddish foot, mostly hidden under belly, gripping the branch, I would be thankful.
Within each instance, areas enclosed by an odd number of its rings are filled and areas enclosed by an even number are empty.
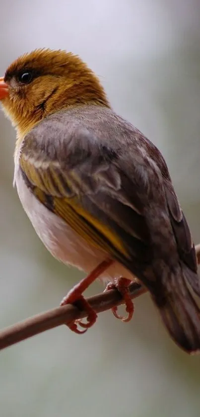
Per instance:
[[[108,285],[106,286],[106,289],[104,290],[104,291],[108,291],[112,289],[117,289],[119,293],[122,295],[125,301],[125,305],[126,305],[127,316],[126,317],[119,316],[119,314],[117,313],[117,310],[118,310],[117,306],[112,308],[112,312],[117,319],[122,320],[122,322],[124,323],[130,322],[130,320],[133,317],[133,312],[134,312],[134,304],[130,297],[130,291],[129,291],[129,285],[131,282],[132,281],[130,279],[127,279],[124,277],[116,278],[114,282],[109,282]]]

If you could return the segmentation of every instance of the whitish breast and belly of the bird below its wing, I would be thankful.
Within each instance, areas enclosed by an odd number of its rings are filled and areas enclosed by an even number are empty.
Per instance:
[[[14,182],[22,206],[29,217],[36,233],[46,248],[65,264],[75,265],[85,272],[91,272],[106,255],[103,251],[88,245],[59,216],[49,211],[28,189],[18,167],[15,164]],[[134,279],[133,275],[118,262],[109,267],[101,279],[113,281],[125,276]]]

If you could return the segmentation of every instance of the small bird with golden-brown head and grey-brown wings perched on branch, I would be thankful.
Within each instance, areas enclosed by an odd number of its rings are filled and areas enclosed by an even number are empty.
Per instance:
[[[19,57],[0,79],[0,100],[17,132],[14,184],[25,212],[52,255],[88,273],[62,302],[86,310],[82,332],[96,320],[82,295],[90,283],[116,286],[129,321],[136,279],[174,341],[198,351],[197,258],[158,149],[114,112],[98,78],[70,52]],[[81,332],[77,322],[68,326]]]

